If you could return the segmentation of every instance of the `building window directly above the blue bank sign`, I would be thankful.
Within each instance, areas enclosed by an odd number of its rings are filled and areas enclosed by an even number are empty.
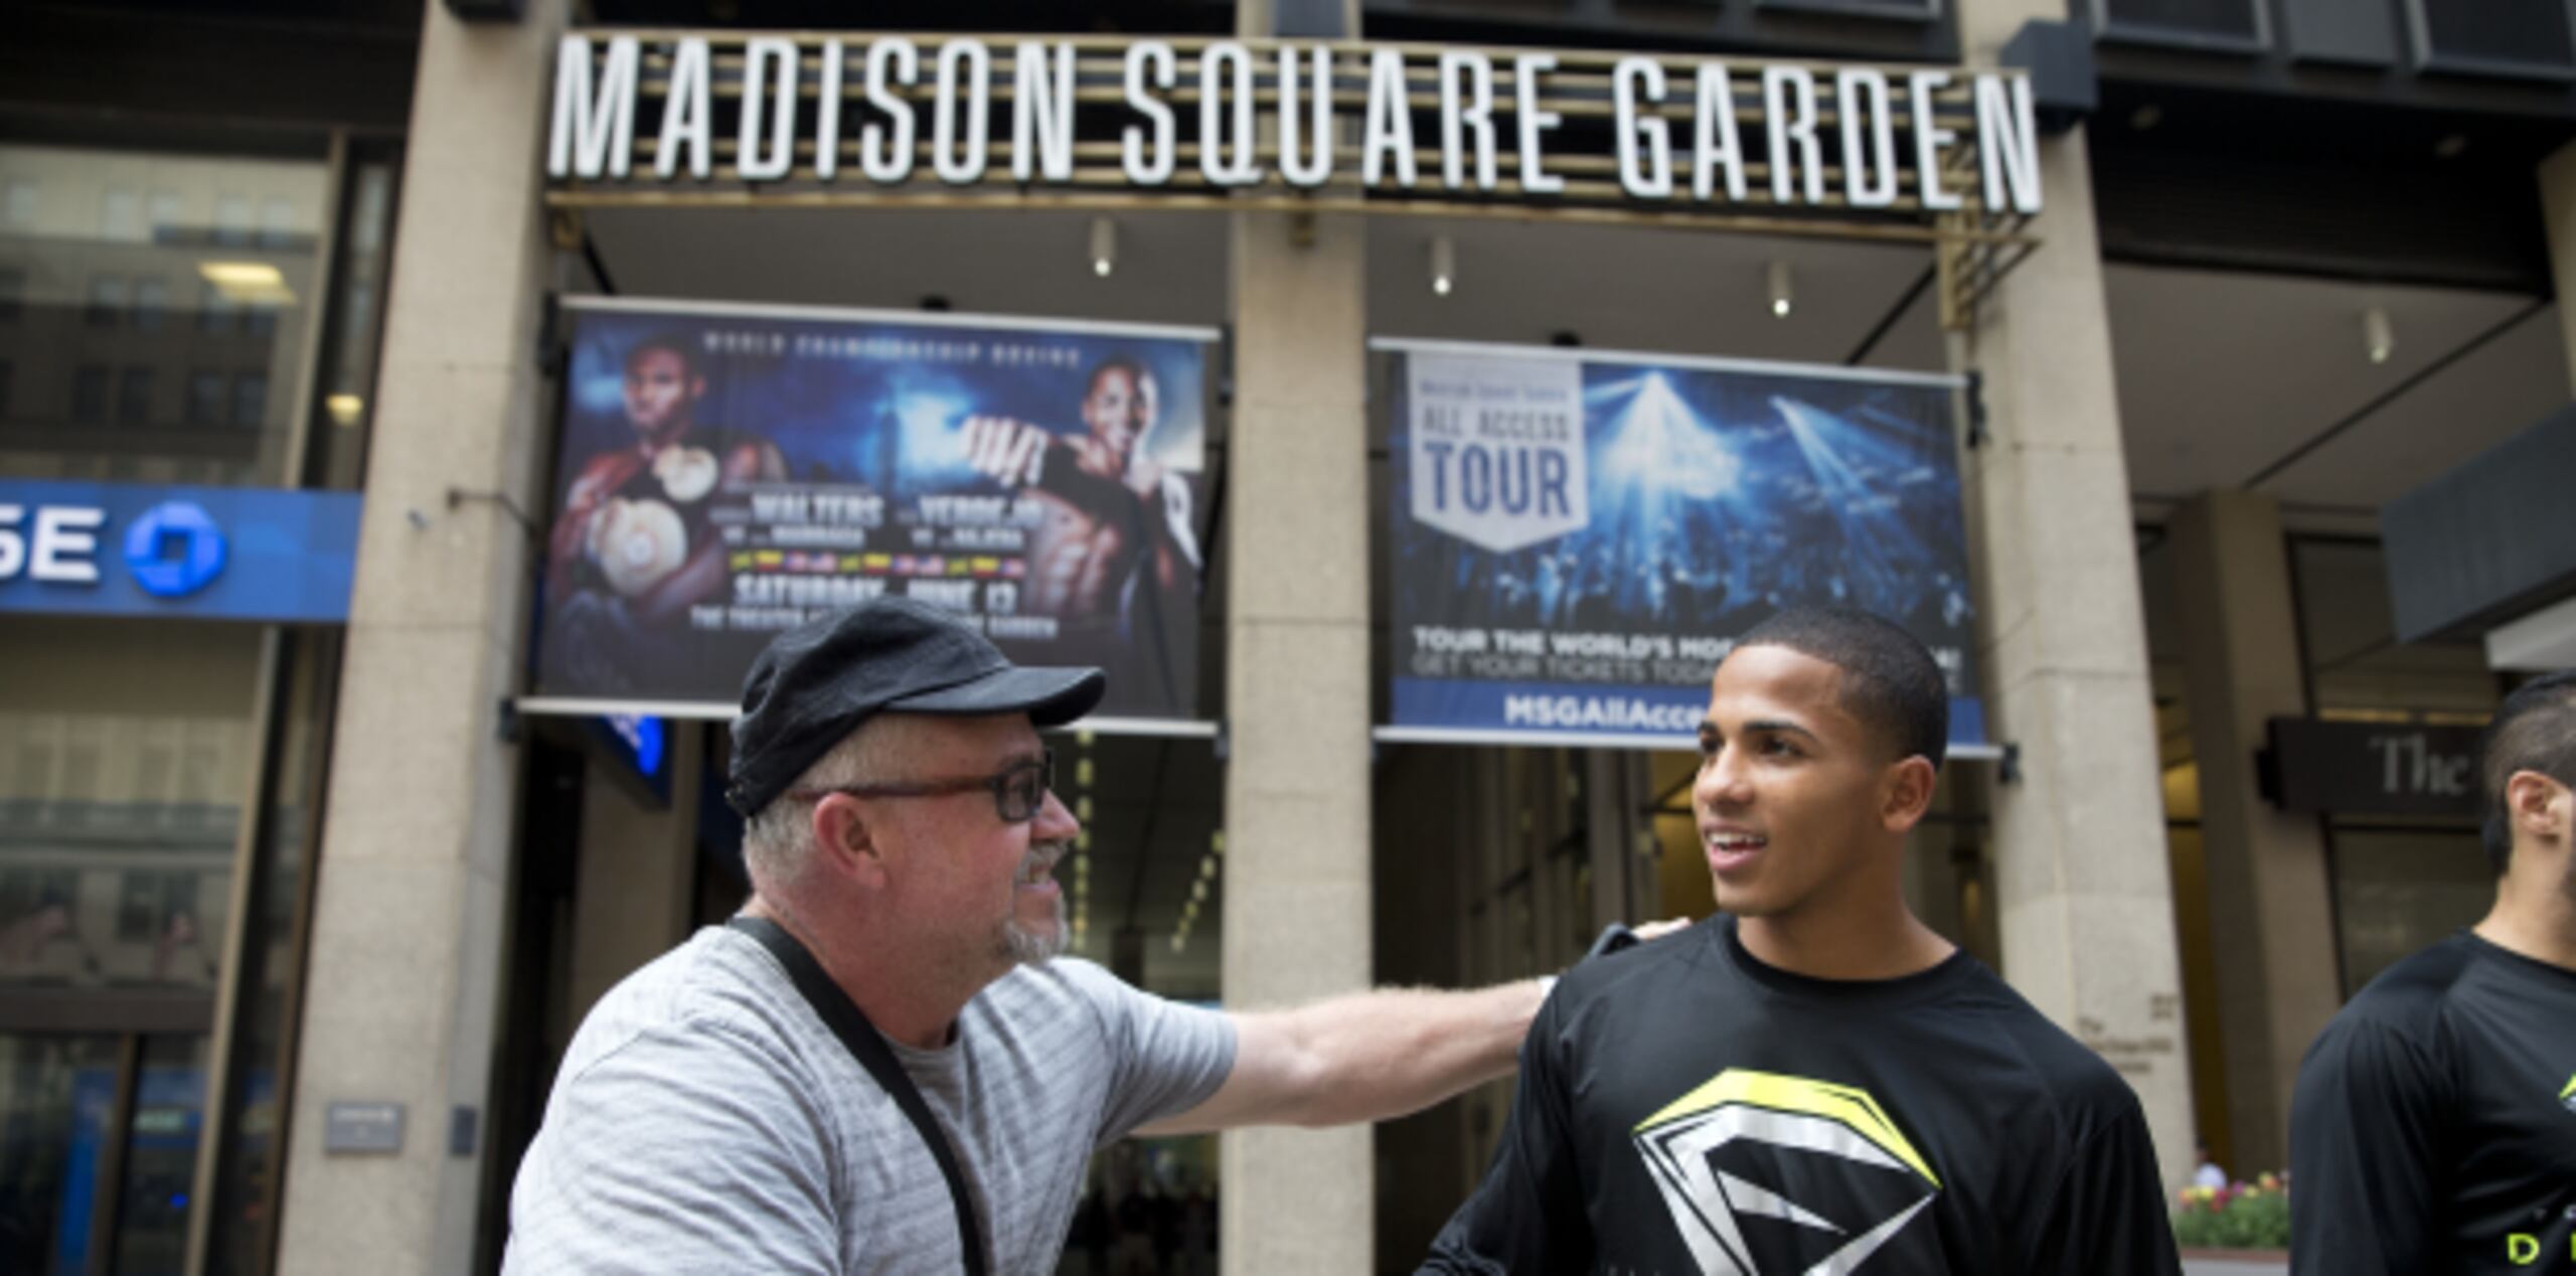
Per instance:
[[[23,222],[0,237],[0,361],[31,369],[15,418],[64,425],[77,394],[88,420],[124,425],[21,430],[8,467],[175,482],[185,464],[209,485],[355,487],[366,423],[304,420],[307,400],[289,387],[371,400],[381,307],[340,314],[350,286],[381,281],[376,255],[355,260],[350,245],[389,253],[392,209],[376,217],[368,191],[379,173],[399,173],[399,144],[374,139],[350,142],[343,168],[319,142],[304,155],[209,155],[0,139],[0,217],[15,201]],[[113,348],[100,340],[111,333]],[[103,384],[93,374],[77,387],[75,363],[103,363]],[[219,436],[170,433],[180,428]],[[350,477],[337,482],[343,459]]]

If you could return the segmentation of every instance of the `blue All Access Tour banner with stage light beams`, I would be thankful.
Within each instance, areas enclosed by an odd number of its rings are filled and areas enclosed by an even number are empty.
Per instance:
[[[1391,740],[1687,748],[1772,611],[1875,611],[1984,742],[1950,376],[1520,345],[1394,356]]]

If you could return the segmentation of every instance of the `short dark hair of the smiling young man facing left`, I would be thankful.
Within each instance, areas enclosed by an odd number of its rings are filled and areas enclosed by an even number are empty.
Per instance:
[[[1888,745],[1891,758],[1922,755],[1940,771],[1950,750],[1950,683],[1924,644],[1893,621],[1847,606],[1775,611],[1736,639],[1788,647],[1842,670],[1842,709]]]

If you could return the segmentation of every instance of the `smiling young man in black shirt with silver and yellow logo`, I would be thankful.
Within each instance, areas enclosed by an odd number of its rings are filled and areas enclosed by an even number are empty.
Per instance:
[[[1906,910],[1945,740],[1888,621],[1736,644],[1692,784],[1723,915],[1556,985],[1425,1271],[2179,1271],[2136,1093]]]

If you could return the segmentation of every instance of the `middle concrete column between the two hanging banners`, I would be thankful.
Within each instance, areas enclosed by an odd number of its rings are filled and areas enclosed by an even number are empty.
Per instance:
[[[1234,214],[1229,1005],[1370,980],[1363,229]],[[1368,1126],[1247,1129],[1221,1155],[1226,1276],[1370,1268]]]

